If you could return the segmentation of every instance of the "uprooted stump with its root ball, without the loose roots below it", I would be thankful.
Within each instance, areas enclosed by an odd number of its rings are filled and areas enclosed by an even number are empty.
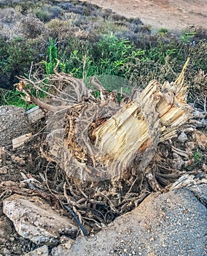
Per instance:
[[[152,80],[133,96],[119,94],[121,100],[95,78],[86,87],[83,80],[58,73],[58,66],[49,78],[21,78],[16,86],[28,102],[48,111],[47,148],[42,154],[67,176],[82,181],[136,181],[139,187],[147,177],[152,189],[158,190],[152,168],[157,144],[176,137],[178,127],[192,113],[185,99],[187,63],[175,82],[162,85]],[[50,104],[34,97],[27,85],[41,91],[46,86]]]

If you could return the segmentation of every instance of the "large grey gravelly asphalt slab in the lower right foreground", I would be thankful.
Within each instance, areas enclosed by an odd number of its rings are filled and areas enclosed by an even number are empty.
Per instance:
[[[95,236],[77,238],[67,255],[206,255],[206,214],[189,188],[154,193]],[[52,256],[66,255],[58,249]]]

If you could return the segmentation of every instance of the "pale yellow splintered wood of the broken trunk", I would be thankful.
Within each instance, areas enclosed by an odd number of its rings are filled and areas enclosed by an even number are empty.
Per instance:
[[[105,165],[118,160],[122,167],[127,167],[136,152],[150,145],[149,129],[159,130],[159,141],[176,136],[177,127],[184,124],[192,112],[185,100],[186,67],[187,63],[174,83],[165,82],[162,86],[153,80],[133,102],[94,130],[96,146],[106,152],[102,159]]]

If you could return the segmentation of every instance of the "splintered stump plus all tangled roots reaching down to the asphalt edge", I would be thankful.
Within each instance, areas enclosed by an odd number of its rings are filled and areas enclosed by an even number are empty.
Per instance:
[[[179,151],[173,138],[192,116],[184,69],[173,83],[152,80],[144,91],[136,91],[136,99],[106,91],[96,78],[87,88],[56,68],[49,78],[21,78],[17,84],[28,102],[48,112],[42,156],[66,173],[64,196],[60,190],[57,195],[88,230],[101,228],[181,176],[169,156]],[[42,86],[47,87],[47,103],[29,90]]]

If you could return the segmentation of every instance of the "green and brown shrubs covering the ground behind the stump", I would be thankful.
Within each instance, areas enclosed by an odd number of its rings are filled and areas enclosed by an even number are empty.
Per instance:
[[[188,56],[189,99],[198,99],[198,85],[202,86],[198,70],[207,71],[206,31],[191,28],[176,36],[161,28],[154,35],[138,19],[127,19],[86,2],[35,4],[15,4],[14,12],[18,10],[22,23],[11,37],[3,33],[0,20],[0,87],[12,89],[0,93],[1,105],[25,107],[13,85],[16,76],[28,75],[31,63],[42,70],[42,76],[52,74],[59,60],[58,71],[77,78],[114,75],[144,87],[154,78],[160,82],[175,79]],[[5,13],[9,12],[6,7]],[[11,19],[9,26],[15,26],[15,21]],[[202,99],[196,103],[202,105]]]

